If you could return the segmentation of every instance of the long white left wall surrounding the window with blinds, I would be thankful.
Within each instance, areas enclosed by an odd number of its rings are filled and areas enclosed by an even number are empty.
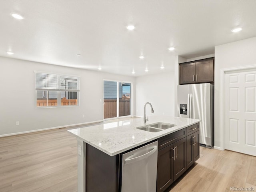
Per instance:
[[[132,83],[135,80],[130,76],[4,57],[0,57],[0,65],[0,136],[101,121],[103,101],[100,102],[100,99],[103,99],[103,79]],[[36,108],[34,70],[80,76],[80,106]],[[132,99],[134,100],[134,96]],[[135,102],[132,108],[135,110]],[[16,121],[19,121],[20,125],[16,125]]]

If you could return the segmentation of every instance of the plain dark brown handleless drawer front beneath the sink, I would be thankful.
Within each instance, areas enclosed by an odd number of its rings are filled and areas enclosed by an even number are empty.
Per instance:
[[[186,128],[168,134],[158,139],[158,150],[165,148],[166,146],[186,137]]]

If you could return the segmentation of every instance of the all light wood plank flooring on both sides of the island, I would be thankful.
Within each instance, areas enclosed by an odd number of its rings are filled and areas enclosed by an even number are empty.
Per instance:
[[[77,192],[77,142],[67,128],[0,138],[0,192]],[[256,157],[200,147],[171,192],[256,191]]]

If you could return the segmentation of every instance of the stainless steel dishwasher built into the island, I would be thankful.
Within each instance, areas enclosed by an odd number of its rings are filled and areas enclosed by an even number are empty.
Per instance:
[[[122,155],[122,192],[156,192],[158,141]]]

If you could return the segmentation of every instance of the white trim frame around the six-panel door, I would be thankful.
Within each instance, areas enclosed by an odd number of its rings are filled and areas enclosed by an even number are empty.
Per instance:
[[[225,74],[227,72],[232,72],[232,73],[236,73],[238,71],[241,70],[256,70],[256,65],[250,65],[250,66],[242,66],[242,67],[233,67],[233,68],[224,68],[220,70],[220,148],[218,147],[214,147],[216,149],[219,150],[224,150],[225,146],[224,146],[224,132],[225,132],[225,106],[224,106],[224,102],[225,102]]]

